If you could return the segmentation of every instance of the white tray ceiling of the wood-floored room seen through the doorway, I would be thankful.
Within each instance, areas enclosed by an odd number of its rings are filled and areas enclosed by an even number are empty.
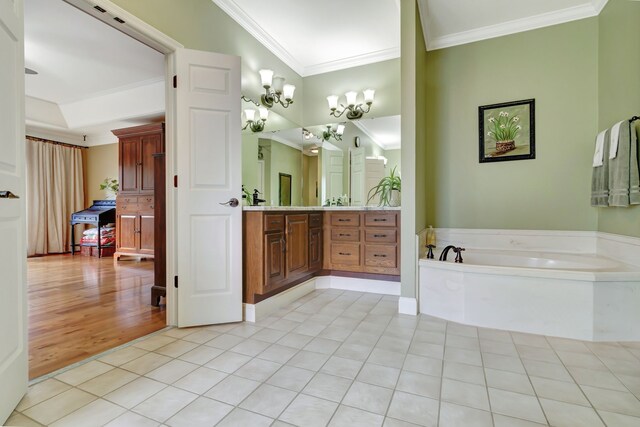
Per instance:
[[[62,0],[25,0],[25,65],[29,126],[92,145],[164,114],[164,55]]]

